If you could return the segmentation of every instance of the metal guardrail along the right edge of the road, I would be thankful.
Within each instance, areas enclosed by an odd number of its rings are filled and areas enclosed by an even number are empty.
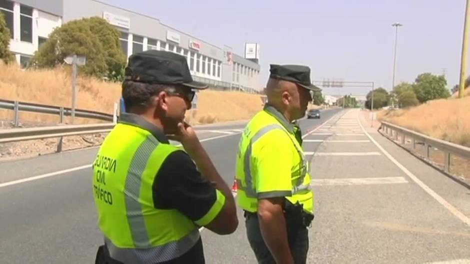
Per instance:
[[[401,144],[404,145],[406,137],[411,138],[413,150],[416,149],[416,143],[422,142],[426,152],[426,158],[429,159],[429,148],[436,148],[444,153],[444,170],[450,172],[451,155],[456,155],[461,158],[470,159],[470,148],[458,144],[450,143],[444,140],[432,138],[424,134],[390,124],[388,122],[381,122],[381,131],[385,135],[398,140],[400,135]]]

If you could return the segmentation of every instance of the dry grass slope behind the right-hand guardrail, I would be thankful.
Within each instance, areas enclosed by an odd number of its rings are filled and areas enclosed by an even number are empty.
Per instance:
[[[469,91],[467,91],[469,94]],[[470,96],[440,99],[399,110],[382,110],[378,118],[414,131],[470,147]]]

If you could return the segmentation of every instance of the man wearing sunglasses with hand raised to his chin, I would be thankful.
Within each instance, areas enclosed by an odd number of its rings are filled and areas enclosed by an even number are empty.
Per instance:
[[[122,83],[127,113],[93,164],[104,236],[96,263],[203,264],[198,228],[220,235],[235,231],[231,191],[183,121],[192,89],[204,88],[192,81],[179,54],[148,50],[129,57]]]

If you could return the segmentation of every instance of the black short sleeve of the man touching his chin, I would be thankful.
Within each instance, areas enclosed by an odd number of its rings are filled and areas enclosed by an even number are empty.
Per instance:
[[[215,203],[215,188],[196,169],[181,150],[163,161],[153,180],[153,205],[156,209],[176,209],[192,221],[202,218]]]

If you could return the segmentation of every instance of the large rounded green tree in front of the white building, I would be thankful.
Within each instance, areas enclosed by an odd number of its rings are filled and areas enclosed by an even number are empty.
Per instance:
[[[119,31],[98,17],[72,20],[54,29],[31,59],[36,67],[53,67],[72,54],[86,57],[80,71],[96,77],[113,77],[125,65]]]

